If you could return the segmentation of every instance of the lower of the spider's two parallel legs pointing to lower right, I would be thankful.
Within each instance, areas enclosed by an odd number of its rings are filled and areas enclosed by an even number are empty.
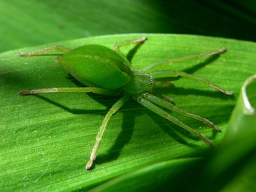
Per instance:
[[[175,117],[171,116],[169,113],[164,111],[163,109],[159,108],[157,105],[153,104],[152,102],[148,101],[147,99],[143,98],[142,96],[137,97],[137,102],[143,105],[145,108],[148,108],[149,110],[153,111],[154,113],[157,113],[158,115],[162,116],[165,119],[168,119],[169,121],[175,123],[176,125],[186,129],[193,135],[197,136],[199,139],[204,141],[207,145],[217,148],[217,146],[212,143],[211,140],[209,140],[207,137],[205,137],[203,134],[199,133],[195,129],[189,127],[185,123],[181,122],[180,120],[176,119]]]

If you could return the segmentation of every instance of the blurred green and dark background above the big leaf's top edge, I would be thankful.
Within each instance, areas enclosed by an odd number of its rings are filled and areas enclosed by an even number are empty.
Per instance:
[[[256,41],[255,0],[0,0],[0,52],[118,33]]]

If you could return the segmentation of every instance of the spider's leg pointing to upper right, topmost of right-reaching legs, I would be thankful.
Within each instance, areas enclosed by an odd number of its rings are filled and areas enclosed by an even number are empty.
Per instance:
[[[188,56],[184,56],[184,57],[170,58],[170,59],[165,60],[165,61],[160,61],[160,62],[157,62],[157,63],[153,63],[151,65],[148,65],[147,67],[143,68],[142,71],[145,72],[145,73],[148,73],[148,72],[158,70],[162,67],[166,67],[171,63],[178,63],[178,62],[182,62],[182,61],[186,61],[186,60],[190,60],[190,59],[206,57],[206,56],[209,56],[209,55],[219,54],[219,53],[224,52],[224,51],[226,51],[226,49],[223,47],[223,48],[218,49],[216,51],[204,52],[204,53],[200,53],[200,54],[196,54],[196,55],[188,55]]]

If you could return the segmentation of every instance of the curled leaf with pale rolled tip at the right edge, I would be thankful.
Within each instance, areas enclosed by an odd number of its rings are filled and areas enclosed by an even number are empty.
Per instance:
[[[256,74],[241,87],[220,151],[212,163],[213,175],[219,175],[256,149],[255,106]]]

